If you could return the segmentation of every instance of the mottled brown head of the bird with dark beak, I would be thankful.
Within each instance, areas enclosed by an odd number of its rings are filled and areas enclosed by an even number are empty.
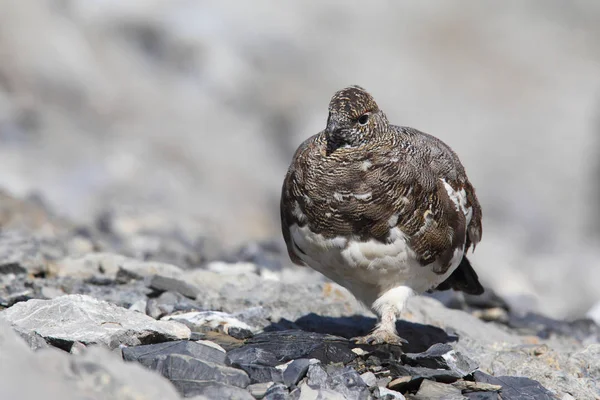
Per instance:
[[[325,134],[335,148],[360,146],[387,127],[385,114],[360,86],[339,90],[329,102]]]

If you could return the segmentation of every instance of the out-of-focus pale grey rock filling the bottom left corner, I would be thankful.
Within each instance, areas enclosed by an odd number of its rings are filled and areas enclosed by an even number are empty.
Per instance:
[[[54,348],[33,352],[2,321],[0,382],[0,399],[180,399],[160,375],[99,347],[77,357]]]

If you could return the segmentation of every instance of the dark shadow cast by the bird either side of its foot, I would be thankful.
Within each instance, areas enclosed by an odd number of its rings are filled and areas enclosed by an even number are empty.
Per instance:
[[[350,317],[324,317],[310,313],[291,322],[280,320],[265,328],[266,332],[284,329],[300,329],[307,332],[328,334],[350,339],[368,334],[375,327],[377,320],[362,315]],[[436,343],[448,343],[458,340],[457,336],[449,335],[443,329],[431,325],[423,325],[408,321],[396,322],[398,334],[408,340],[402,346],[405,352],[418,353],[427,350]]]

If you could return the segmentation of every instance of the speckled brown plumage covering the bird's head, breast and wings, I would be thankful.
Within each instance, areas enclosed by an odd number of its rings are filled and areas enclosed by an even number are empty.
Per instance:
[[[330,124],[348,124],[372,113],[364,127],[331,129],[306,140],[296,151],[281,196],[281,221],[290,258],[298,249],[292,224],[308,225],[324,237],[380,242],[398,227],[422,265],[440,261],[437,273],[450,267],[456,248],[481,239],[481,208],[456,154],[439,139],[412,128],[389,125],[374,100],[358,88],[330,103]],[[342,114],[340,116],[340,114]],[[342,121],[342,122],[340,122]],[[353,135],[344,136],[348,129]],[[357,134],[357,130],[362,130]],[[351,139],[349,139],[351,138]],[[356,139],[358,138],[358,139]],[[349,140],[359,142],[349,143]],[[473,210],[466,226],[441,179],[465,190]],[[391,222],[391,223],[390,223]]]

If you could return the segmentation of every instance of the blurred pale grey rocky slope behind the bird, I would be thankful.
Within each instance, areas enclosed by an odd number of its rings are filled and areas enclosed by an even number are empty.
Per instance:
[[[206,258],[281,246],[291,155],[360,84],[462,158],[484,283],[580,317],[600,300],[598,21],[593,0],[2,0],[0,187]]]

